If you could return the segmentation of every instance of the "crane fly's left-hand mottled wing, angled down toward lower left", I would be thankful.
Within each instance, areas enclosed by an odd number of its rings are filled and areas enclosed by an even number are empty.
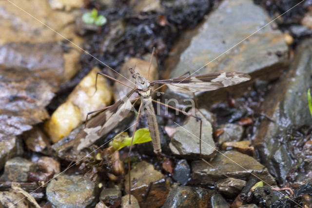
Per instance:
[[[117,101],[110,108],[100,113],[96,118],[88,122],[74,139],[74,149],[81,149],[90,146],[97,139],[109,133],[117,124],[122,121],[133,109],[129,98],[135,92],[131,90],[125,97]]]

